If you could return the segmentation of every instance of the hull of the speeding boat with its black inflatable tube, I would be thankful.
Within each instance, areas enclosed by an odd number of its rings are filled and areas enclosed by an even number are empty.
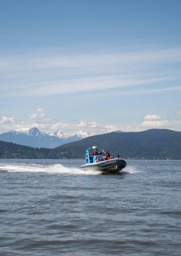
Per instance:
[[[96,170],[103,173],[114,174],[126,167],[126,162],[122,159],[112,159],[97,163],[84,164],[80,168],[82,170]]]

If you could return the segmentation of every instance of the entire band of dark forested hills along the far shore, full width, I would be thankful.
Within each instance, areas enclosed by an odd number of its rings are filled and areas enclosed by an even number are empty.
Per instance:
[[[181,132],[151,129],[143,132],[111,132],[90,136],[54,149],[32,148],[0,141],[0,158],[85,158],[93,144],[121,158],[181,159]]]

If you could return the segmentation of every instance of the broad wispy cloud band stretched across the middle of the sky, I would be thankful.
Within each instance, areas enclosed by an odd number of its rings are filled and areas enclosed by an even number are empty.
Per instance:
[[[147,85],[181,78],[176,65],[181,62],[181,48],[149,46],[143,50],[111,49],[111,53],[97,50],[91,54],[50,50],[3,55],[1,59],[2,96],[51,95],[140,85],[145,86],[140,90],[143,93],[179,90],[179,86],[155,90]]]

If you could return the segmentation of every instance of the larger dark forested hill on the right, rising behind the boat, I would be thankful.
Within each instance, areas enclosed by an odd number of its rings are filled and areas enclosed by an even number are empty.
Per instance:
[[[181,159],[181,132],[167,129],[111,132],[65,144],[54,150],[55,152],[68,152],[71,158],[84,158],[86,148],[92,147],[93,144],[109,150],[113,156],[119,154],[125,159]]]

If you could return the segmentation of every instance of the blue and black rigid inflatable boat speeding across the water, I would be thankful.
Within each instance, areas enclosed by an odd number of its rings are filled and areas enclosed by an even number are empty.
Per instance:
[[[93,156],[93,151],[94,150],[101,150],[102,155],[96,155]],[[96,146],[93,146],[92,148],[88,148],[86,150],[86,163],[82,165],[80,168],[82,170],[96,170],[100,171],[104,174],[115,174],[119,171],[121,171],[123,168],[126,167],[126,162],[121,159],[121,158],[113,158],[110,160],[105,160],[105,161],[99,161],[95,162],[96,158],[98,157],[100,159],[104,157],[104,150],[101,148],[97,148]]]

